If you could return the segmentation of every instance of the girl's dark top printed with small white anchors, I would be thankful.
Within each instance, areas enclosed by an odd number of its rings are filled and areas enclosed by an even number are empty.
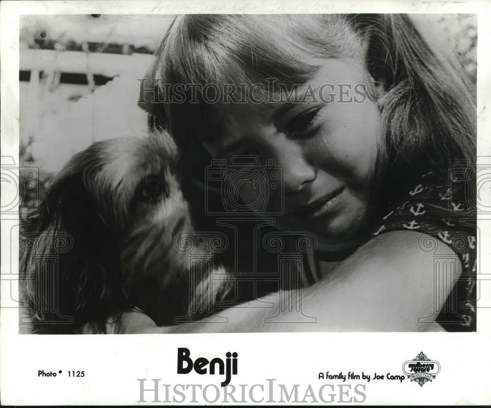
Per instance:
[[[455,195],[452,195],[459,183],[466,182],[464,177],[453,179],[450,183],[442,182],[446,179],[448,173],[434,175],[430,172],[424,175],[420,183],[406,190],[397,202],[388,207],[388,211],[371,228],[370,236],[400,230],[424,233],[418,244],[421,250],[434,254],[434,270],[429,273],[436,274],[436,282],[443,282],[444,273],[452,273],[456,262],[461,262],[462,274],[436,321],[447,331],[475,331],[478,238],[475,204],[472,203],[472,195],[468,197],[469,202],[455,200]],[[444,242],[454,253],[438,253],[435,240]],[[340,261],[354,251],[341,251],[334,256]],[[313,257],[312,254],[305,257],[303,264],[308,284],[320,279],[319,270],[322,262],[326,261],[335,262],[336,258],[332,253],[322,251],[316,251]],[[440,266],[450,270],[444,271]]]

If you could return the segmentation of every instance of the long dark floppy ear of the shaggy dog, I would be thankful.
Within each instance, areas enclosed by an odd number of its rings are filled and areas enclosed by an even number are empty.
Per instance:
[[[100,169],[94,157],[82,152],[55,176],[21,233],[21,294],[35,332],[77,333],[85,323],[104,331],[125,302],[117,240],[87,185]]]

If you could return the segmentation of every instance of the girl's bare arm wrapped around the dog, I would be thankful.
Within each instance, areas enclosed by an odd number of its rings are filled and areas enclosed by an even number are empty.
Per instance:
[[[301,293],[293,293],[297,296],[273,293],[218,314],[228,319],[226,323],[204,319],[157,327],[145,315],[131,312],[124,316],[124,331],[434,331],[438,328],[434,323],[436,316],[460,276],[462,266],[453,250],[435,238],[427,236],[434,239],[435,249],[423,249],[421,237],[421,233],[411,231],[384,233],[342,262],[329,278],[302,289]],[[446,261],[439,257],[437,269],[435,254],[448,255],[444,257]],[[449,264],[447,275],[441,275],[445,269],[441,262],[454,262],[454,272],[450,272]],[[281,302],[278,301],[280,296]],[[273,302],[273,307],[264,308],[265,301]],[[280,305],[282,310],[288,310],[291,303],[297,301],[301,302],[302,313],[316,318],[316,322],[291,322],[292,315],[279,311]],[[276,315],[274,322],[267,321],[268,317]]]

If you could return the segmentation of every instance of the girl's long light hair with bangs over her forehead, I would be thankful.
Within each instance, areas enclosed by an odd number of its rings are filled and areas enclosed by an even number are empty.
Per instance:
[[[431,23],[420,20],[401,14],[181,15],[164,37],[151,76],[159,86],[274,78],[291,89],[316,74],[314,58],[359,58],[386,91],[377,102],[384,132],[378,179],[396,192],[430,171],[448,172],[456,160],[473,164],[476,155],[474,92],[450,47],[435,45]],[[233,104],[208,103],[190,92],[183,103],[146,107],[156,126],[196,155],[201,142],[220,134]]]

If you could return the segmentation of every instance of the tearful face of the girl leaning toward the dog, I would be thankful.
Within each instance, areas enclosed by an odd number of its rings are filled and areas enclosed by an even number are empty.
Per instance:
[[[269,208],[283,200],[284,214],[275,216],[279,229],[313,232],[330,243],[354,238],[367,217],[381,135],[364,79],[361,62],[323,60],[299,88],[299,96],[308,91],[305,102],[236,105],[220,140],[204,146],[228,163],[234,155],[257,154],[261,163],[273,159],[283,169],[283,194],[269,190]],[[245,204],[257,199],[252,183],[237,189]]]

